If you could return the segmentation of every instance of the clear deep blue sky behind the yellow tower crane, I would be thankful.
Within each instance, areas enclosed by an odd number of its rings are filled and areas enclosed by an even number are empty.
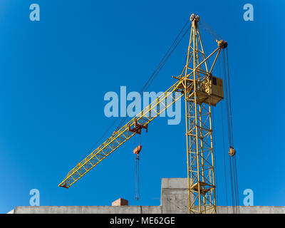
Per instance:
[[[29,20],[29,6],[41,21]],[[254,21],[243,6],[254,5]],[[135,201],[133,140],[113,152],[69,190],[58,187],[113,123],[108,91],[138,91],[190,14],[197,13],[229,43],[234,145],[239,199],[285,205],[284,1],[0,1],[0,212],[29,205],[160,204],[162,177],[187,177],[185,120],[155,120],[142,136],[141,199]],[[189,36],[149,90],[174,83]],[[207,48],[207,43],[205,43]],[[209,53],[210,50],[207,50]],[[219,204],[224,196],[220,108],[217,126]],[[229,182],[229,180],[228,180]]]

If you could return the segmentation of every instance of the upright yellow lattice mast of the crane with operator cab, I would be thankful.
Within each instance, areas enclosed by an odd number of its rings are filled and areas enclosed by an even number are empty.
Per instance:
[[[224,98],[222,79],[212,76],[212,70],[227,42],[217,41],[217,49],[205,56],[199,16],[192,14],[190,20],[192,28],[187,63],[179,78],[183,81],[185,94],[189,213],[212,214],[217,212],[212,105]],[[207,60],[214,55],[216,57],[210,66]]]

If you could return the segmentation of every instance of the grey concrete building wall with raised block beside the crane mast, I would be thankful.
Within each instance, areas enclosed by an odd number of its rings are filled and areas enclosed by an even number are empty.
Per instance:
[[[285,214],[285,207],[240,206],[241,214]],[[187,214],[187,178],[162,178],[160,206],[39,206],[15,207],[9,214]],[[218,206],[217,213],[232,213]]]

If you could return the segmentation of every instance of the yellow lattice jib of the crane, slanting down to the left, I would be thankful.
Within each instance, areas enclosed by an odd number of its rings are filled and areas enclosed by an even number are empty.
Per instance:
[[[90,155],[79,162],[76,167],[68,172],[66,177],[58,186],[66,188],[71,187],[71,185],[86,175],[87,172],[92,170],[93,167],[98,165],[106,157],[108,157],[108,155],[118,149],[118,147],[132,138],[135,133],[130,131],[130,128],[134,127],[135,123],[144,126],[147,125],[152,120],[157,118],[158,115],[163,113],[167,108],[169,108],[173,103],[179,100],[184,94],[175,92],[180,92],[181,83],[182,81],[177,81],[173,86],[166,90],[165,93],[162,93],[156,100],[152,101],[150,105],[138,113],[138,115],[136,115],[132,120],[113,133],[108,140],[103,142],[103,144],[101,144],[97,149],[91,152]],[[171,102],[167,103],[169,100],[171,100]]]

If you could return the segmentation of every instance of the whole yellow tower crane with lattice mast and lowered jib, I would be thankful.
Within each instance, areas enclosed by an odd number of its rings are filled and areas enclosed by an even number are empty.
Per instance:
[[[213,76],[212,71],[221,50],[227,48],[227,42],[215,39],[217,48],[206,56],[199,31],[199,16],[192,14],[190,21],[187,62],[180,76],[173,77],[177,79],[175,84],[79,162],[59,187],[71,187],[133,135],[141,134],[142,128],[147,130],[152,120],[184,95],[189,212],[217,212],[212,106],[224,98],[224,90],[222,78]],[[212,64],[209,64],[209,58],[212,58]]]

